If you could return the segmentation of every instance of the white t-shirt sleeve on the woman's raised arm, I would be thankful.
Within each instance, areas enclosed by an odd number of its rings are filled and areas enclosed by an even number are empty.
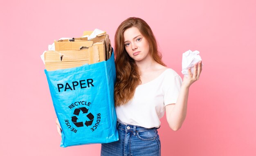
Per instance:
[[[166,80],[166,86],[164,89],[164,106],[177,102],[181,85],[182,78],[179,75]]]

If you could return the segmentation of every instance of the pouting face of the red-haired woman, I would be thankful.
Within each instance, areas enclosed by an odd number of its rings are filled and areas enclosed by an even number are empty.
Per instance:
[[[124,31],[124,47],[135,61],[150,58],[148,40],[141,35],[137,27],[131,27]]]

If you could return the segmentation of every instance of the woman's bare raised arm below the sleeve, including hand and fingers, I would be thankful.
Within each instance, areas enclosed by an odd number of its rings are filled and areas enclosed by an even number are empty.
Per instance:
[[[192,75],[191,70],[189,69],[189,78],[184,76],[182,86],[180,88],[180,94],[178,96],[176,104],[167,105],[166,110],[166,119],[168,125],[174,131],[177,131],[182,126],[186,118],[187,103],[189,98],[189,87],[193,82],[199,79],[202,71],[202,62],[194,67],[194,73]]]

